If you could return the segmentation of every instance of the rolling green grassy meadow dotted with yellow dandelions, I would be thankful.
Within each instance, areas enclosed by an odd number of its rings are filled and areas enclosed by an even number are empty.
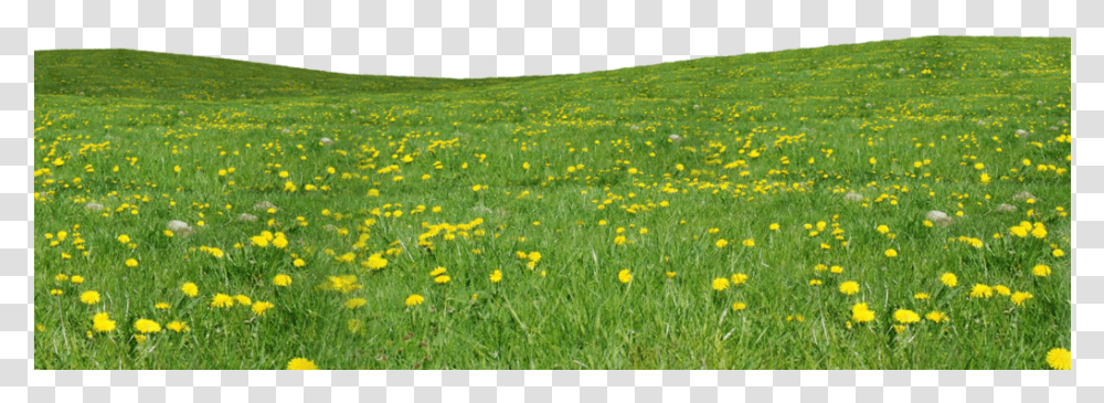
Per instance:
[[[39,51],[34,364],[1062,368],[1069,53],[449,79]]]

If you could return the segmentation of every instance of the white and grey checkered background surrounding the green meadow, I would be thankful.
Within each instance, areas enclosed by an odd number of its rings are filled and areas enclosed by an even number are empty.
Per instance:
[[[1104,395],[1104,210],[1095,209],[1104,206],[1101,15],[1100,0],[2,1],[0,400],[1100,401],[1091,396]],[[128,47],[340,73],[463,78],[934,34],[1072,38],[1073,371],[32,370],[35,50]]]

